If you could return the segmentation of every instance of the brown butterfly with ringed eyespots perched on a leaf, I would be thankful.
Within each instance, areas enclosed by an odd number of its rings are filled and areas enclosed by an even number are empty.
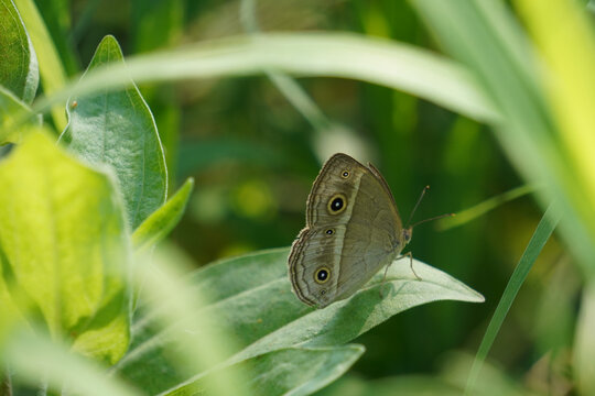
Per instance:
[[[294,241],[289,273],[295,295],[324,308],[347,298],[397,258],[411,239],[380,173],[346,154],[322,167]]]

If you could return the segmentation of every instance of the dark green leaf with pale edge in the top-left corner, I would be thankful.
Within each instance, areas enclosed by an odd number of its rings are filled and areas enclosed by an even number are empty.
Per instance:
[[[12,0],[0,1],[0,86],[31,103],[40,79],[37,58]]]

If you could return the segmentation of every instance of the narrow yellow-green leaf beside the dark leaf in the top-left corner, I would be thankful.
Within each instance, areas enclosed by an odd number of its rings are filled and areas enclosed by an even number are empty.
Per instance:
[[[35,48],[43,91],[45,95],[56,92],[64,87],[66,74],[37,7],[33,0],[14,0],[14,3],[21,13],[26,32]],[[64,129],[66,127],[66,117],[63,101],[55,103],[51,110],[56,129]]]

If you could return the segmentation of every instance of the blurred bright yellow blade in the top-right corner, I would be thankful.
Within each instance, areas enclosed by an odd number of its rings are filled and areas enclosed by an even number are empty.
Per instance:
[[[565,190],[569,201],[595,241],[595,35],[588,14],[574,1],[552,0],[540,3],[516,0],[519,15],[526,22],[541,58],[544,62],[544,100],[548,101],[558,125],[558,150],[565,156],[570,183]],[[572,177],[572,178],[571,178]],[[578,234],[576,227],[564,221],[561,229],[573,246]],[[574,246],[573,246],[574,248]],[[593,264],[593,255],[584,261]],[[593,267],[588,268],[593,275]]]

